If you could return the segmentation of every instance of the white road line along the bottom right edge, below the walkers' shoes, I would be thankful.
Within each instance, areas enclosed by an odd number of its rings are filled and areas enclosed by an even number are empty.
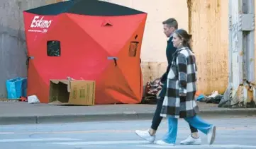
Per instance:
[[[145,148],[256,148],[252,145],[136,145]]]

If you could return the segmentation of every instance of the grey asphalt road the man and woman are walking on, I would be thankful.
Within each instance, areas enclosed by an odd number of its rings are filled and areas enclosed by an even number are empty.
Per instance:
[[[135,135],[135,129],[148,129],[150,122],[109,121],[74,124],[30,124],[0,126],[0,148],[8,149],[130,149],[130,148],[256,148],[256,118],[206,119],[217,126],[216,142],[207,145],[179,145],[189,135],[188,124],[179,120],[177,145],[174,147],[150,144]],[[162,121],[157,139],[167,130]]]

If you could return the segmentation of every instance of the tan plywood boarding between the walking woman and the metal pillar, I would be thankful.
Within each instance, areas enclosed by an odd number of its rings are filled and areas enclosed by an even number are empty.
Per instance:
[[[199,90],[224,93],[228,85],[228,1],[188,1],[192,49],[199,68]]]

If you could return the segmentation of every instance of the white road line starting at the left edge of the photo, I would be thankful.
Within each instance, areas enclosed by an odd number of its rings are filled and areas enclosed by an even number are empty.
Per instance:
[[[20,139],[1,139],[0,143],[7,142],[40,142],[40,141],[79,141],[74,138],[20,138]]]

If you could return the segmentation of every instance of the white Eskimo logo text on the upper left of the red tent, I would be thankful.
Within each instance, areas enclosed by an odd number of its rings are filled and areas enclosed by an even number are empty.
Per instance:
[[[34,16],[30,28],[40,28],[43,30],[28,30],[29,32],[47,32],[48,28],[50,27],[52,23],[52,20],[45,20],[44,17],[42,16],[41,18],[39,16]]]

